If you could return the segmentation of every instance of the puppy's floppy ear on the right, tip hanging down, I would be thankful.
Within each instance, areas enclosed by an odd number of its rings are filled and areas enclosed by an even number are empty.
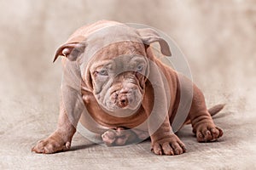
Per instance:
[[[156,31],[154,31],[151,28],[137,29],[137,31],[141,36],[144,44],[149,46],[150,43],[159,42],[161,53],[166,56],[172,55],[168,43],[166,42],[165,39],[160,37],[160,35]]]

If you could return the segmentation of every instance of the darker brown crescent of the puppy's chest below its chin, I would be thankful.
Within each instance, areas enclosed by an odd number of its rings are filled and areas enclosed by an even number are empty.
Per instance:
[[[103,127],[113,128],[113,127],[137,127],[142,124],[146,119],[147,115],[140,107],[135,113],[129,116],[118,116],[112,115],[106,111],[103,111],[102,107],[97,103],[94,96],[91,94],[84,95],[84,105],[93,120]]]

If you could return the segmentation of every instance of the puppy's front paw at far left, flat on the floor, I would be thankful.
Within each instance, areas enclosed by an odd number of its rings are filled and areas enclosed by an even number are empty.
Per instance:
[[[70,149],[70,142],[65,142],[58,134],[53,134],[47,139],[38,141],[32,151],[42,154],[52,154],[57,151],[64,151]]]

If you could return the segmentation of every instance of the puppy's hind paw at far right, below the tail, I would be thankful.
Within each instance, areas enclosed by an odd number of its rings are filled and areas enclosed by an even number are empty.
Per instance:
[[[214,124],[204,123],[197,127],[195,130],[196,139],[198,142],[215,141],[223,136],[223,130],[216,127]]]

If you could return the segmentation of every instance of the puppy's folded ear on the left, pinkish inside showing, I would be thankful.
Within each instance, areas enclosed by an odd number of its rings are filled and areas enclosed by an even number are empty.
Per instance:
[[[85,44],[84,42],[70,42],[61,45],[55,53],[55,60],[60,56],[67,57],[67,59],[74,61],[78,58],[79,54],[84,52]]]

